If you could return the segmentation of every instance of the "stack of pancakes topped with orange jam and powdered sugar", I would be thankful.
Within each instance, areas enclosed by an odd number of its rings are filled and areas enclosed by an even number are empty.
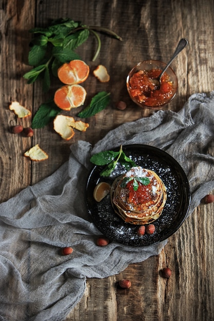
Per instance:
[[[142,177],[147,177],[144,185]],[[137,187],[136,187],[137,184]],[[132,167],[117,177],[111,187],[114,211],[127,223],[148,224],[157,219],[166,203],[166,187],[152,170]]]

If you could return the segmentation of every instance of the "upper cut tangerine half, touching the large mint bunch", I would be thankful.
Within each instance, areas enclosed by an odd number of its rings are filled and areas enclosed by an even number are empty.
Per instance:
[[[75,59],[63,64],[57,70],[57,75],[63,84],[81,84],[88,78],[89,66],[82,60]]]

